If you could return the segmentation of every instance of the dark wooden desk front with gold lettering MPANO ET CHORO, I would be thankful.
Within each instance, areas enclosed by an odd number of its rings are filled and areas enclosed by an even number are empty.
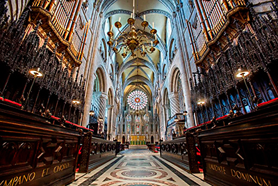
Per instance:
[[[66,185],[74,180],[81,135],[0,103],[0,185]]]

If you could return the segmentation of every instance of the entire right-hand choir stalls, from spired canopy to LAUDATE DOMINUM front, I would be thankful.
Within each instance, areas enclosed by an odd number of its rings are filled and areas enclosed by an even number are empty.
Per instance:
[[[265,16],[242,5],[246,22],[231,18],[229,34],[208,34],[207,52],[196,54],[199,68],[190,79],[197,126],[161,142],[161,157],[202,171],[212,185],[278,183],[277,5]]]

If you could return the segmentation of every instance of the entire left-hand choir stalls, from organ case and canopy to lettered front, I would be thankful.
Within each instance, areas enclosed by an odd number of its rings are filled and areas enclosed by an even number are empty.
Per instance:
[[[67,185],[76,171],[92,171],[116,155],[115,142],[80,125],[84,42],[74,41],[81,34],[74,10],[82,1],[65,10],[72,13],[63,20],[70,31],[63,38],[57,21],[67,13],[57,2],[33,1],[10,25],[0,3],[0,185]]]

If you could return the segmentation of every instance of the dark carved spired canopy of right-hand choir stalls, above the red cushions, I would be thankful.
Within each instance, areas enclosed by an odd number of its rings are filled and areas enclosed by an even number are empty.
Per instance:
[[[278,3],[272,3],[272,13],[261,16],[249,8],[252,29],[245,29],[235,21],[236,33],[220,33],[227,42],[215,43],[210,58],[199,63],[190,79],[191,103],[197,116],[197,123],[206,123],[213,117],[220,118],[228,114],[247,114],[255,111],[257,104],[278,97],[277,59],[278,59]],[[234,30],[231,29],[231,30]],[[252,31],[251,31],[252,30]],[[233,42],[236,40],[236,42]],[[222,48],[223,45],[227,45]],[[212,52],[212,51],[218,51]],[[250,75],[236,77],[239,68],[246,68]],[[197,104],[206,100],[204,104]]]

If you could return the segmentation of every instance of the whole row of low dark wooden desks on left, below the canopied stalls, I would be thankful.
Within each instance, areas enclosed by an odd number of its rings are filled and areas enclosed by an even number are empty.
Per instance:
[[[67,185],[115,157],[116,142],[52,121],[0,100],[0,185]]]

